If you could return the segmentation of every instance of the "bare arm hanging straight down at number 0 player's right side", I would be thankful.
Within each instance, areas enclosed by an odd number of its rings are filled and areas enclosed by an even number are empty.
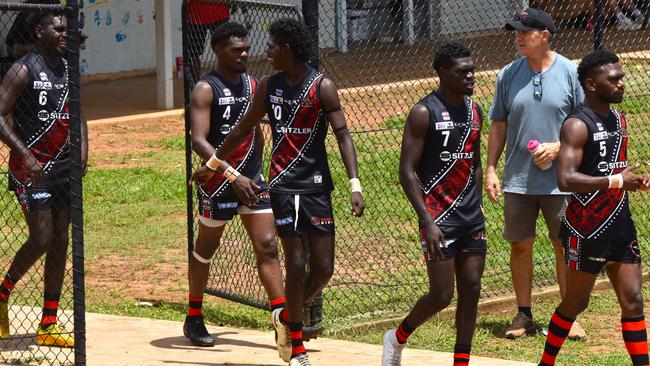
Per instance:
[[[327,120],[336,136],[336,142],[339,145],[341,158],[343,158],[343,165],[345,165],[348,178],[359,178],[357,153],[354,149],[354,143],[352,142],[348,125],[345,122],[345,113],[343,113],[343,109],[341,108],[341,101],[339,100],[338,90],[334,82],[324,78],[320,85],[320,94],[323,110],[327,113]],[[365,204],[361,192],[352,192],[350,200],[352,203],[352,215],[362,216]]]

